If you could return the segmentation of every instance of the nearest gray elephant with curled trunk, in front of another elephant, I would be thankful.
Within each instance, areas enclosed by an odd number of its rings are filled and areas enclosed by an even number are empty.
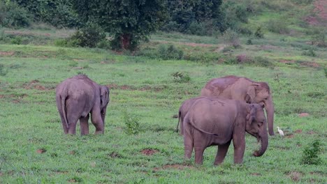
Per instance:
[[[254,156],[261,156],[268,147],[266,116],[259,104],[240,100],[200,98],[194,102],[184,118],[184,156],[191,158],[195,151],[196,164],[203,163],[208,146],[218,146],[214,164],[224,161],[233,139],[234,163],[240,164],[245,152],[245,132],[261,142]]]

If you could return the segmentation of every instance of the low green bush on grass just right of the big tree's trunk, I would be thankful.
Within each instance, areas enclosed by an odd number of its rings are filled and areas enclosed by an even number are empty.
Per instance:
[[[168,59],[182,59],[184,52],[182,49],[177,49],[175,45],[159,45],[158,56],[163,60]]]

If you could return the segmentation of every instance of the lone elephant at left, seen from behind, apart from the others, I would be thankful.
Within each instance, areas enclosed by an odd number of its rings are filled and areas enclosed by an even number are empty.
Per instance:
[[[89,134],[89,114],[96,134],[103,134],[109,89],[93,82],[86,75],[76,75],[56,88],[57,108],[65,134],[76,133],[80,120],[80,134]]]

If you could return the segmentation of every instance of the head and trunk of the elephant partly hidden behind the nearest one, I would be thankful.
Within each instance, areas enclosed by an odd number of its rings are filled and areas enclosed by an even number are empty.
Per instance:
[[[269,135],[274,135],[273,123],[275,109],[268,84],[266,82],[254,82],[253,84],[250,84],[247,88],[245,101],[248,103],[264,105],[268,118]]]

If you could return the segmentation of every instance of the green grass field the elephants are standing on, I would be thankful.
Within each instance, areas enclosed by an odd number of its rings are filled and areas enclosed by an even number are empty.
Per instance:
[[[156,39],[165,40],[165,36],[159,37],[153,36],[148,44]],[[266,38],[266,44],[269,42]],[[277,41],[277,44],[288,47],[282,42]],[[200,56],[212,49],[177,46]],[[260,45],[242,49],[249,54],[266,56]],[[235,49],[235,52],[242,49]],[[184,60],[162,61],[118,55],[103,49],[46,45],[0,45],[0,50],[13,52],[11,56],[0,56],[0,63],[7,71],[0,76],[0,183],[327,182],[327,80],[324,70],[289,66],[275,59],[309,59],[298,55],[301,50],[296,47],[289,47],[286,51],[289,55],[284,55],[283,49],[268,52],[272,56],[267,57],[277,63],[274,69],[215,62],[208,65]],[[320,56],[314,61],[326,64],[326,59]],[[189,82],[176,82],[175,72],[187,73]],[[61,129],[54,88],[78,73],[110,86],[104,135],[68,136]],[[174,132],[177,119],[172,116],[177,114],[182,101],[197,96],[209,79],[225,75],[268,82],[275,103],[275,127],[288,128],[291,132],[284,139],[278,135],[270,137],[268,150],[260,158],[252,156],[257,148],[256,139],[247,135],[243,164],[233,164],[231,146],[225,162],[214,167],[217,148],[210,147],[205,151],[203,166],[195,167],[194,158],[183,160],[183,138]],[[126,134],[124,112],[138,118],[138,135]],[[299,117],[303,112],[310,116]],[[92,125],[90,128],[90,132],[94,132]],[[319,155],[323,163],[300,164],[304,148],[315,139],[323,143],[323,152]],[[144,155],[145,149],[155,153]]]

